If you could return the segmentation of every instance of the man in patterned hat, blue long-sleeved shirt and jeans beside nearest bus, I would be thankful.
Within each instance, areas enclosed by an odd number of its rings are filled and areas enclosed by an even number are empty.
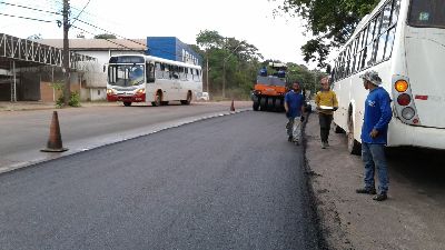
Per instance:
[[[357,193],[376,194],[374,173],[377,170],[378,194],[373,199],[387,199],[388,173],[385,159],[388,123],[393,117],[388,92],[379,87],[382,79],[376,71],[367,71],[360,76],[363,86],[369,93],[365,101],[365,114],[362,127],[362,159],[365,163],[365,187]]]

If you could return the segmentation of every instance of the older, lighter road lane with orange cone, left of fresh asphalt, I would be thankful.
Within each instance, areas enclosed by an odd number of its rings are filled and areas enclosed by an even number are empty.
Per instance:
[[[235,106],[239,109],[251,103],[236,102]],[[228,102],[166,107],[108,103],[57,109],[63,147],[69,149],[62,154],[147,134],[211,113],[229,112],[229,107]],[[52,112],[50,109],[0,112],[0,172],[60,156],[40,152],[47,146]]]

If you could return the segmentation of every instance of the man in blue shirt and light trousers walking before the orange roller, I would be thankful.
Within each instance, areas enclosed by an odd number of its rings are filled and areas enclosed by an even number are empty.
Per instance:
[[[293,83],[293,89],[285,96],[285,110],[288,122],[286,124],[288,141],[299,143],[301,134],[301,123],[304,121],[304,97],[301,94],[299,82]]]

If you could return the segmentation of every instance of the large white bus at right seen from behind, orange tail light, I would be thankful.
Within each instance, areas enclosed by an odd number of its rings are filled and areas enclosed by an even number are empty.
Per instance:
[[[336,132],[359,153],[364,102],[359,74],[375,70],[392,94],[388,147],[445,149],[445,0],[383,0],[357,26],[333,66]]]

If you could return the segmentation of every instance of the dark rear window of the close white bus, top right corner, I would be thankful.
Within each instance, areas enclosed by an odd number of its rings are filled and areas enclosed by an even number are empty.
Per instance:
[[[412,0],[409,26],[445,28],[445,0]]]

